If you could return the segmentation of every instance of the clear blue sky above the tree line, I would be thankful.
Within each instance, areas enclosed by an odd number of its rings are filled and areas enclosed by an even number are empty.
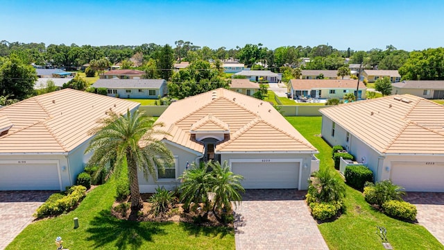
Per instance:
[[[139,45],[184,40],[227,49],[329,44],[411,51],[442,47],[444,1],[0,0],[0,40]]]

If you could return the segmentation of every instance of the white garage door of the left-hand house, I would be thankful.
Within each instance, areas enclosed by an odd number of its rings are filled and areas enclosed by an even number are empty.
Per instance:
[[[0,164],[0,190],[60,190],[56,164]]]

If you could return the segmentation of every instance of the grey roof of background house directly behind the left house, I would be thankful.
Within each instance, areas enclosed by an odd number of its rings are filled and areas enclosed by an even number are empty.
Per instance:
[[[94,88],[160,88],[162,84],[167,84],[164,79],[99,79],[92,87]]]

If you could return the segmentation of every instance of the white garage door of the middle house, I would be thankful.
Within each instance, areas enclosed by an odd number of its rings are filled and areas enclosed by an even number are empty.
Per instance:
[[[299,163],[232,163],[246,189],[298,188]]]

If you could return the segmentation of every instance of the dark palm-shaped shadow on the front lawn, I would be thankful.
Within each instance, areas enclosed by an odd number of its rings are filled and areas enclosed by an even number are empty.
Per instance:
[[[166,234],[160,224],[120,220],[110,210],[102,210],[89,226],[87,240],[94,242],[95,248],[115,242],[117,249],[139,249],[144,241],[152,241],[152,235]]]

